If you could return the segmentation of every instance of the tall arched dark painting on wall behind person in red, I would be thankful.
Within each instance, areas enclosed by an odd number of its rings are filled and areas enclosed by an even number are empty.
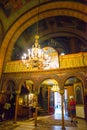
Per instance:
[[[74,84],[75,89],[75,99],[77,105],[83,105],[83,90],[82,90],[82,84],[76,83]]]

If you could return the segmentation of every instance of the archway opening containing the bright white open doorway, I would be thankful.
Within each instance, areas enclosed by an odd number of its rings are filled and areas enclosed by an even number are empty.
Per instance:
[[[46,79],[41,83],[38,96],[40,114],[61,114],[61,95],[58,91],[59,86],[55,79]]]

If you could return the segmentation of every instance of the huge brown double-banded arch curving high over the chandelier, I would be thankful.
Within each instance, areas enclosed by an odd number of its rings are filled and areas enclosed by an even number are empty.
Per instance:
[[[3,66],[5,54],[7,48],[12,49],[15,41],[20,36],[20,34],[30,25],[37,22],[37,8],[30,10],[20,19],[18,19],[13,26],[9,29],[7,35],[5,36],[2,47],[1,47],[1,66]],[[44,19],[51,16],[65,15],[73,16],[87,22],[87,9],[86,6],[80,3],[74,2],[51,2],[40,6],[39,19]],[[10,37],[9,37],[10,36]],[[11,44],[10,44],[11,43]],[[11,50],[8,51],[8,58],[11,55]],[[2,71],[2,67],[0,68]]]

